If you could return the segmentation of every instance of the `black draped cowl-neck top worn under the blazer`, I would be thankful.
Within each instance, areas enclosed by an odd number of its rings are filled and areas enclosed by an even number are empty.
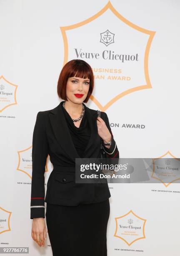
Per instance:
[[[61,106],[62,106],[63,102],[64,101],[61,102]],[[89,126],[89,122],[87,120],[86,112],[84,113],[84,115],[82,117],[82,120],[80,122],[80,127],[77,128],[75,126],[74,122],[72,121],[69,113],[65,110],[65,108],[63,108],[63,106],[62,106],[62,109],[65,114],[67,126],[69,128],[74,146],[75,146],[80,158],[82,158],[85,148],[87,146],[87,143],[89,142],[89,139],[90,139],[90,126]]]

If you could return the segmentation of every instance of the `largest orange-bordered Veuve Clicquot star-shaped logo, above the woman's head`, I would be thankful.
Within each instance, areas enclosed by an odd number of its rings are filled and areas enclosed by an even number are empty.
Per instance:
[[[110,1],[87,20],[60,29],[64,65],[71,59],[90,64],[95,78],[91,100],[101,111],[129,93],[152,88],[148,57],[155,31],[133,24]]]

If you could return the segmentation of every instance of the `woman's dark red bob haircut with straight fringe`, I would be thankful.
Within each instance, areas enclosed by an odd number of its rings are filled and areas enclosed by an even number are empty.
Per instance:
[[[87,102],[94,88],[94,74],[90,65],[82,59],[72,59],[68,61],[60,72],[57,82],[57,94],[62,100],[67,100],[66,85],[69,77],[80,77],[90,79],[90,87],[87,97],[83,102]]]

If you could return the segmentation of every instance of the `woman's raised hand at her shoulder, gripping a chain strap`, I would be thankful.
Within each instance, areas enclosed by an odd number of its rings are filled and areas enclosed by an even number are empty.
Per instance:
[[[104,143],[108,143],[112,140],[110,131],[108,130],[105,121],[100,117],[97,117],[97,131]]]

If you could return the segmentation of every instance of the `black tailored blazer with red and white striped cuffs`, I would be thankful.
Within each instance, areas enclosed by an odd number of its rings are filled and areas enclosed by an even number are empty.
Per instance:
[[[111,196],[107,183],[75,183],[75,158],[80,156],[72,141],[61,104],[52,110],[37,113],[32,137],[31,219],[45,218],[45,202],[75,206],[101,202]],[[91,135],[83,158],[99,158],[101,138],[97,133],[97,110],[84,106]],[[112,135],[107,114],[101,112],[101,118]],[[104,146],[104,149],[107,157],[119,158],[113,135],[110,148]],[[48,154],[53,170],[47,181],[45,196],[44,173]]]

